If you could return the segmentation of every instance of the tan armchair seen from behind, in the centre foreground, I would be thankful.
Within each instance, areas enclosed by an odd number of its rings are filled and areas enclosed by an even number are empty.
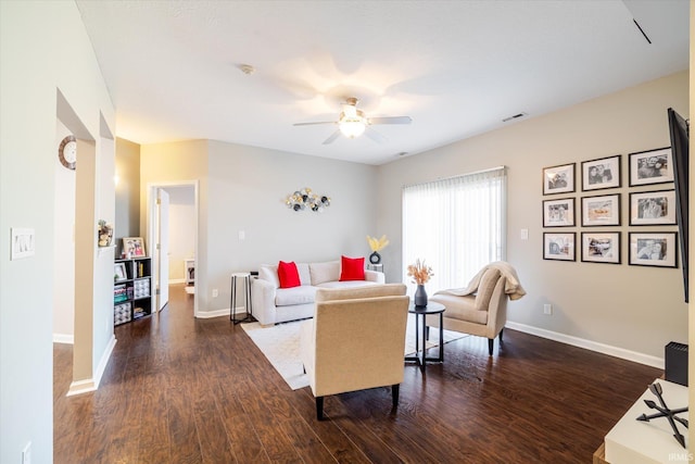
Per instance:
[[[324,418],[324,397],[391,386],[404,376],[409,298],[403,284],[316,291],[314,318],[302,323],[300,355]]]

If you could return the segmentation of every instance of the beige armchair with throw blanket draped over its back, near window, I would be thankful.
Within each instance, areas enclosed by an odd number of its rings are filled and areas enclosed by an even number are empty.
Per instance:
[[[446,310],[443,324],[446,330],[488,338],[492,355],[494,339],[507,322],[507,297],[516,300],[526,294],[516,271],[507,263],[496,262],[483,267],[465,289],[441,290],[430,301],[442,303]],[[428,317],[427,325],[439,327],[438,317]]]

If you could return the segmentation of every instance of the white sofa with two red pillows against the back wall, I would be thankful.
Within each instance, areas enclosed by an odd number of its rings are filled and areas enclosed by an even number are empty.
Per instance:
[[[299,287],[280,288],[277,264],[262,264],[253,280],[252,311],[261,325],[303,319],[314,315],[314,296],[319,288],[354,288],[383,284],[383,273],[365,269],[365,280],[340,280],[340,261],[296,263]]]

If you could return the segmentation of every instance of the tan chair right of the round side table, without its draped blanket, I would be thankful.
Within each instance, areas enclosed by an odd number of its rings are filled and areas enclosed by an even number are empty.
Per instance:
[[[506,277],[496,268],[488,268],[482,274],[476,293],[457,296],[447,290],[438,291],[430,301],[446,306],[443,314],[446,330],[476,335],[488,338],[490,355],[494,348],[494,339],[507,322]],[[428,327],[439,327],[439,317],[428,316]]]

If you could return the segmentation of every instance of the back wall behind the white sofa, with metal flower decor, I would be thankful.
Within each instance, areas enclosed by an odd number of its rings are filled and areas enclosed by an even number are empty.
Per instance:
[[[142,146],[141,167],[143,188],[200,180],[195,284],[201,317],[229,311],[233,272],[255,271],[261,263],[279,260],[365,255],[365,237],[376,234],[374,166],[218,141],[187,141]],[[304,187],[331,197],[331,206],[324,213],[288,210],[287,195]],[[141,201],[144,205],[144,195]],[[215,289],[218,297],[213,298]]]

